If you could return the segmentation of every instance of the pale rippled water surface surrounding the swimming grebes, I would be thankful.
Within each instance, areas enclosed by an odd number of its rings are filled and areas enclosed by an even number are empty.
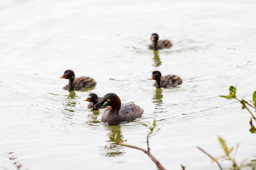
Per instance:
[[[255,89],[255,1],[1,1],[0,2],[0,168],[156,169],[146,148],[167,169],[218,169],[202,152],[223,155],[217,136],[240,143],[237,160],[256,155],[250,115],[225,100],[237,83],[237,97],[250,100]],[[172,41],[154,53],[150,34]],[[95,88],[68,92],[60,79],[67,69],[90,76]],[[151,72],[177,74],[183,84],[156,89]],[[119,81],[121,80],[121,81]],[[123,103],[144,109],[140,119],[118,126],[100,123],[91,92],[115,92]],[[230,166],[221,162],[224,167]]]

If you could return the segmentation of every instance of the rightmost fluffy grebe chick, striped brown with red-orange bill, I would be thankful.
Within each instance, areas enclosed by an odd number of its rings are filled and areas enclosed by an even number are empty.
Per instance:
[[[156,80],[156,82],[154,83],[154,86],[156,86],[157,88],[175,87],[182,83],[182,80],[179,76],[167,75],[167,76],[162,77],[162,74],[160,71],[153,71],[152,78],[150,80],[152,80],[152,79]]]

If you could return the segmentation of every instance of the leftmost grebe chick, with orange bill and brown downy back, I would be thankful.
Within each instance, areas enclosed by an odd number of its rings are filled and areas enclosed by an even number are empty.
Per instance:
[[[63,87],[64,90],[82,90],[96,85],[96,82],[90,77],[75,78],[75,73],[72,70],[66,70],[60,78],[69,79],[69,83]]]

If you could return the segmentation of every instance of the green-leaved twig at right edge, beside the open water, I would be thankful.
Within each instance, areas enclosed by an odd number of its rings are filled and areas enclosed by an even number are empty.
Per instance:
[[[248,106],[254,108],[255,112],[256,112],[256,91],[253,92],[252,95],[252,101],[250,100],[249,103],[248,101],[244,100],[244,99],[237,99],[236,98],[236,87],[234,86],[230,86],[229,87],[229,94],[227,96],[220,96],[220,97],[224,97],[226,99],[236,99],[238,100],[241,104],[242,104],[242,109],[246,109],[252,116],[251,120],[250,120],[250,125],[251,125],[251,129],[250,132],[251,133],[256,133],[256,129],[252,124],[252,119],[256,122],[256,117],[252,114],[251,110],[248,108]]]

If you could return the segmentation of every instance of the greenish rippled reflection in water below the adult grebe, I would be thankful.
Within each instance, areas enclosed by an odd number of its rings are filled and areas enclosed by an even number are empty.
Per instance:
[[[117,134],[117,139],[121,138],[122,140],[124,139],[121,131],[121,126],[116,125],[116,126],[105,126],[107,127],[107,130],[110,131],[108,133],[107,137],[108,140],[106,140],[106,145],[103,147],[103,155],[107,157],[112,157],[112,156],[117,156],[117,155],[122,155],[124,154],[124,147],[117,145],[116,143],[112,142],[109,137],[113,137],[113,134]]]

